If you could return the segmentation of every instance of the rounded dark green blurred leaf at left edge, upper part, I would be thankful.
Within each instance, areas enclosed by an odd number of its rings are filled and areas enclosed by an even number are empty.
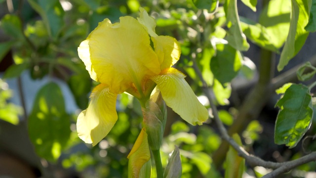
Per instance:
[[[17,15],[6,14],[0,23],[3,32],[14,39],[23,39],[22,23]]]

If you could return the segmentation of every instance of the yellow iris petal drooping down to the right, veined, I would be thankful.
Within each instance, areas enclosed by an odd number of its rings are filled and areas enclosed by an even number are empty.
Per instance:
[[[208,112],[184,78],[177,69],[168,68],[151,80],[157,84],[167,106],[188,123],[201,125],[208,119]]]

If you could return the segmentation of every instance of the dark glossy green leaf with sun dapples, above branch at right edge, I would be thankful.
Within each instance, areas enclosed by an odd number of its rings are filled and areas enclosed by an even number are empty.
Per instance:
[[[276,106],[280,110],[276,118],[275,143],[293,148],[312,123],[313,105],[310,89],[301,84],[293,84],[286,89]]]

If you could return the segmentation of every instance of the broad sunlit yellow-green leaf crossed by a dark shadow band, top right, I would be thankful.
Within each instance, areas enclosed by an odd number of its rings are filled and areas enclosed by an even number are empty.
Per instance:
[[[259,24],[266,27],[270,42],[280,48],[287,37],[290,28],[290,0],[269,0],[260,14]]]

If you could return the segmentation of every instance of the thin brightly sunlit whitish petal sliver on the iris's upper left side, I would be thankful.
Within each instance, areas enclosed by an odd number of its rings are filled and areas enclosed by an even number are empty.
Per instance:
[[[85,65],[85,69],[89,72],[91,79],[98,82],[97,74],[94,72],[94,69],[92,68],[92,65],[91,65],[88,43],[89,43],[88,40],[85,40],[80,43],[78,47],[78,55],[79,55],[79,58],[83,61]]]

